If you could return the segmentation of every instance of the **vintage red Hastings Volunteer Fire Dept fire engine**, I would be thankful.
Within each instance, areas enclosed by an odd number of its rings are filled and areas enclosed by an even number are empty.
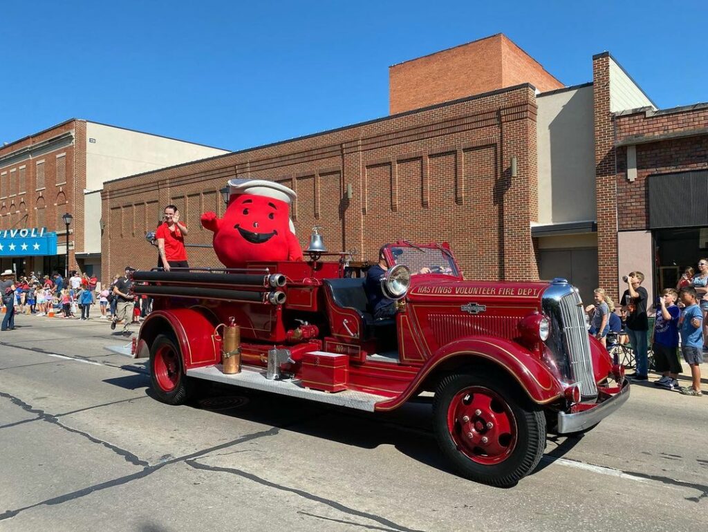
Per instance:
[[[382,281],[396,316],[375,320],[365,279],[309,252],[243,269],[135,272],[154,311],[134,356],[149,357],[157,398],[184,403],[205,379],[384,412],[432,391],[442,452],[460,474],[498,486],[535,468],[547,432],[586,431],[629,398],[564,279],[469,281],[446,243],[398,241],[385,248]]]

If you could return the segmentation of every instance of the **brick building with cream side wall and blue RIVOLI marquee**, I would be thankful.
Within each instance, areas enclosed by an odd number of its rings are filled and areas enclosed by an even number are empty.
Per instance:
[[[64,272],[62,215],[69,213],[69,269],[100,271],[105,180],[223,153],[77,119],[0,146],[0,269]],[[28,235],[42,229],[42,238],[56,237],[50,248],[42,248],[45,253],[35,255]]]

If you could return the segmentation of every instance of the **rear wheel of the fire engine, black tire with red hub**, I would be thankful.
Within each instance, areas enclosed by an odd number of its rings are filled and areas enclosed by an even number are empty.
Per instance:
[[[172,335],[157,335],[150,346],[150,382],[162,403],[183,405],[193,394],[193,383],[184,372],[182,353]]]

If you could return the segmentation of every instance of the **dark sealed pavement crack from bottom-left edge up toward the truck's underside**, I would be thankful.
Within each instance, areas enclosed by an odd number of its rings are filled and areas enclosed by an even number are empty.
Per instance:
[[[226,447],[232,445],[243,444],[246,441],[252,441],[254,439],[262,438],[263,436],[275,436],[276,434],[278,434],[278,432],[280,432],[280,429],[278,427],[273,427],[272,429],[268,429],[261,432],[253,432],[252,434],[246,434],[245,436],[241,436],[240,438],[234,439],[232,441],[227,441],[224,444],[219,444],[208,449],[202,449],[201,451],[196,451],[195,453],[190,453],[185,456],[179,456],[178,458],[173,458],[172,460],[161,461],[160,463],[156,463],[154,465],[147,465],[142,470],[137,471],[137,473],[132,473],[131,475],[125,475],[122,477],[114,478],[112,480],[107,480],[105,482],[100,482],[89,487],[81,488],[81,490],[65,493],[64,495],[59,495],[58,497],[52,497],[51,499],[45,499],[44,501],[37,502],[35,504],[30,504],[30,506],[27,507],[7,510],[4,513],[0,514],[0,521],[10,519],[11,517],[16,516],[22,511],[33,509],[42,505],[51,506],[53,504],[62,504],[63,502],[69,502],[75,499],[79,499],[81,497],[86,497],[86,495],[90,495],[93,492],[106,490],[109,487],[125,485],[128,482],[132,482],[133,480],[138,480],[140,478],[145,478],[148,475],[152,475],[152,473],[154,473],[155,471],[164,468],[165,465],[188,461],[192,458],[198,458],[202,456],[202,454],[210,453],[212,451],[219,451],[220,449],[225,449]]]

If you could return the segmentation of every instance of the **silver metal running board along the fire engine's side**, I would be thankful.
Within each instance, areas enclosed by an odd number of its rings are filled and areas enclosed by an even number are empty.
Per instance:
[[[187,376],[204,378],[207,381],[232,384],[233,386],[241,386],[242,388],[252,388],[253,390],[290,395],[291,397],[318,401],[319,403],[328,403],[330,405],[354,408],[356,410],[366,410],[367,412],[374,412],[376,403],[391,399],[384,395],[375,395],[373,393],[353,390],[344,390],[337,393],[316,391],[304,388],[299,379],[295,378],[269,381],[265,378],[265,371],[252,369],[244,368],[241,369],[241,373],[224,374],[222,373],[221,364],[188,369]]]

